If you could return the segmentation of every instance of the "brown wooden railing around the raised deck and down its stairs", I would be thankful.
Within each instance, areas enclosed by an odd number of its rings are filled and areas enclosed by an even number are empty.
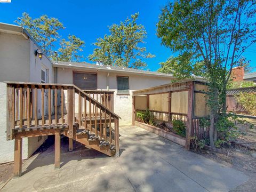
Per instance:
[[[7,140],[27,137],[24,133],[26,131],[49,130],[50,132],[59,128],[67,129],[68,137],[73,138],[77,122],[79,129],[84,128],[95,133],[96,136],[99,135],[101,139],[109,142],[110,146],[113,145],[118,153],[119,116],[108,108],[113,102],[108,100],[113,98],[110,92],[86,91],[102,99],[97,101],[85,91],[70,84],[5,83],[7,84]],[[78,113],[75,113],[76,106]]]

